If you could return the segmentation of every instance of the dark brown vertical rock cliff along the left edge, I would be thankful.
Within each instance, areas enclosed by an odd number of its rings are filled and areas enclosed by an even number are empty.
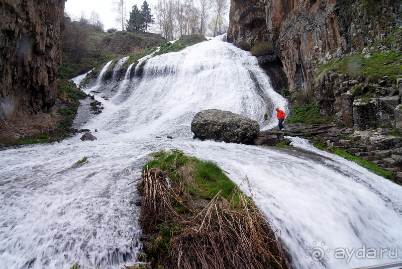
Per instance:
[[[0,138],[55,126],[65,0],[0,0]],[[41,118],[41,119],[39,119]]]

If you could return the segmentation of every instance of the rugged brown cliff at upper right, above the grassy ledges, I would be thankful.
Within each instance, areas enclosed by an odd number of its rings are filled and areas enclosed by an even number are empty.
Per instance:
[[[384,40],[402,26],[401,13],[387,0],[231,0],[228,38],[270,41],[290,88],[306,92],[320,64]]]

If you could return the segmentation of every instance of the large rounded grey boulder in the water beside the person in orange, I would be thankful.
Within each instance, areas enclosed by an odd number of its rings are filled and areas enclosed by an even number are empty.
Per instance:
[[[254,144],[260,132],[255,120],[230,111],[209,109],[198,112],[191,122],[194,138]]]

